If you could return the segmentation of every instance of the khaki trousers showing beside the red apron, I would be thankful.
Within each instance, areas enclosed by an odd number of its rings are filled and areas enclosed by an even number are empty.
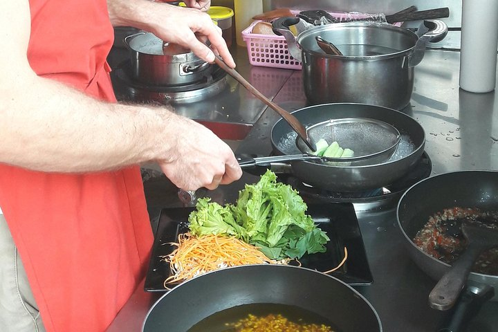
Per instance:
[[[0,331],[45,332],[24,266],[1,210]]]

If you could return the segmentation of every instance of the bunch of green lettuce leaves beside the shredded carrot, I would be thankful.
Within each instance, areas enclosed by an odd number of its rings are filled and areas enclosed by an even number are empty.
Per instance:
[[[317,228],[307,205],[290,185],[277,183],[268,170],[255,184],[246,184],[234,205],[199,199],[189,217],[194,235],[226,234],[251,243],[270,259],[299,259],[324,252],[329,237]]]

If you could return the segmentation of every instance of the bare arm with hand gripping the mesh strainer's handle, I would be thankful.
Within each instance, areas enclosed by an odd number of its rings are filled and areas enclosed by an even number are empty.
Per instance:
[[[1,1],[0,31],[9,50],[0,53],[0,163],[98,172],[156,160],[185,190],[241,176],[230,147],[201,124],[165,107],[100,102],[37,76],[26,57],[28,0]]]

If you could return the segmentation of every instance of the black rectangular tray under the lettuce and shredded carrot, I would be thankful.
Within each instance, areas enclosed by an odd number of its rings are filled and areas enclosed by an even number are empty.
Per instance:
[[[161,258],[169,255],[175,246],[178,234],[187,232],[188,216],[195,208],[167,208],[160,212],[158,229],[145,277],[145,291],[165,292],[164,281],[169,277],[169,264]],[[329,273],[351,285],[367,285],[372,278],[365,246],[363,244],[356,212],[351,203],[308,204],[309,214],[317,226],[324,230],[331,241],[326,244],[326,252],[304,255],[299,261],[305,268],[319,271],[331,270],[344,258],[344,246],[348,251],[346,263],[338,270]]]

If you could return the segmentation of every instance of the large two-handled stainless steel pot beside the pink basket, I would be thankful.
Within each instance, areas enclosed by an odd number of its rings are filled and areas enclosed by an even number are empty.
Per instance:
[[[427,42],[445,37],[442,21],[424,21],[416,33],[378,22],[327,24],[309,28],[297,38],[288,26],[298,19],[273,22],[286,38],[288,51],[302,62],[304,92],[311,104],[358,102],[391,109],[409,103],[414,66],[421,62]],[[326,54],[316,37],[333,43],[342,55]]]

